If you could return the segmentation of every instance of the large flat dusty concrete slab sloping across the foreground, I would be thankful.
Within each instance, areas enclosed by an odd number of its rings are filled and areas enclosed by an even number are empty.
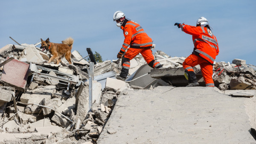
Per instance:
[[[247,100],[216,87],[127,90],[97,144],[255,144]]]

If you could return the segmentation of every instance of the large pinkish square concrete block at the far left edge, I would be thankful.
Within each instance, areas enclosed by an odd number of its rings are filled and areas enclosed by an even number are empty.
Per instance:
[[[13,59],[4,65],[0,80],[23,91],[26,87],[28,73],[29,64]]]

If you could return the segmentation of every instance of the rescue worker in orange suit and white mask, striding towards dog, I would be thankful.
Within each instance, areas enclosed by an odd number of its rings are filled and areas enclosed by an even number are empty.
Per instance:
[[[117,58],[122,58],[122,70],[120,75],[116,75],[117,79],[125,81],[130,68],[130,60],[139,53],[152,68],[158,69],[162,67],[158,61],[154,60],[151,51],[152,39],[148,37],[142,26],[125,18],[125,14],[121,11],[114,13],[113,21],[116,21],[116,26],[123,30],[125,36],[122,48],[117,54]],[[130,47],[128,48],[128,46]]]

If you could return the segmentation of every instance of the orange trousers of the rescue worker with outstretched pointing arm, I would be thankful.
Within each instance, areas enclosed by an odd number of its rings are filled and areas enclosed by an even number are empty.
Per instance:
[[[212,80],[212,65],[207,60],[205,60],[195,54],[191,54],[183,62],[183,68],[186,69],[187,71],[194,72],[194,70],[191,68],[198,64],[201,67],[201,72],[202,72],[202,75],[204,78],[205,85],[206,86],[214,86],[214,82]]]

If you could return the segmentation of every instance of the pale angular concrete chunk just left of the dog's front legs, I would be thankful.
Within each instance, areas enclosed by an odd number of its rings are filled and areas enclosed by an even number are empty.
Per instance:
[[[25,55],[20,58],[20,61],[31,61],[40,63],[44,61],[44,58],[41,56],[41,54],[38,52],[38,50],[33,45],[28,45],[24,49]]]

